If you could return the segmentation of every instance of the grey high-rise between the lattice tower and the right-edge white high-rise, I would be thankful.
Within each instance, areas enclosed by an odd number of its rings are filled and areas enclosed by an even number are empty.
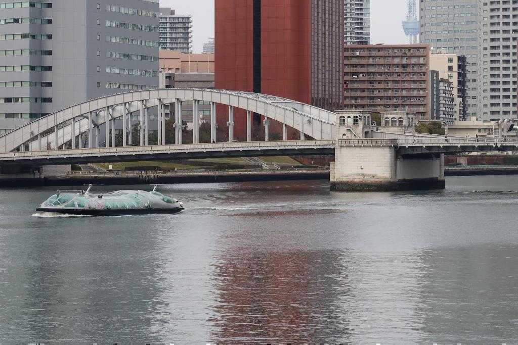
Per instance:
[[[465,55],[467,58],[467,116],[480,116],[478,102],[480,0],[421,0],[420,42],[431,52]]]

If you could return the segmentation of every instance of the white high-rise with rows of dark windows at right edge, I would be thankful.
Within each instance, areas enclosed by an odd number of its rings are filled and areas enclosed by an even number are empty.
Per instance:
[[[480,2],[479,106],[482,119],[516,118],[518,0]]]

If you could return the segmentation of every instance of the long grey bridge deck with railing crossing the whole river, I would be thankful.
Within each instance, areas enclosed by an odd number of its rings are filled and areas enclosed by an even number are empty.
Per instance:
[[[0,153],[0,165],[83,164],[193,158],[333,155],[335,140],[126,146]],[[338,140],[340,146],[392,146],[399,155],[518,151],[518,139],[414,138]]]

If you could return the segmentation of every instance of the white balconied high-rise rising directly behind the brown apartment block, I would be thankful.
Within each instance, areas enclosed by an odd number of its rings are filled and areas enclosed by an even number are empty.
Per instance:
[[[343,0],[343,43],[370,43],[370,0]]]

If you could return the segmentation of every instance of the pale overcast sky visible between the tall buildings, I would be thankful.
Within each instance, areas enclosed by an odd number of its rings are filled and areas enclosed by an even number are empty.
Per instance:
[[[214,37],[214,0],[160,0],[179,14],[192,14],[194,52]],[[371,43],[406,43],[401,22],[406,18],[407,0],[371,0]]]

